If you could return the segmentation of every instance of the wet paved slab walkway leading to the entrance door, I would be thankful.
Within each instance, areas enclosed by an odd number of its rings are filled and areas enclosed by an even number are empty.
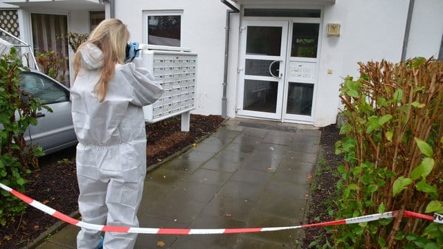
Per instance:
[[[257,123],[257,124],[255,124]],[[307,128],[307,129],[305,129]],[[261,228],[300,225],[320,131],[228,120],[185,153],[149,172],[138,218],[144,228]],[[39,246],[75,248],[66,226]],[[244,234],[140,234],[135,248],[297,248],[302,230]]]

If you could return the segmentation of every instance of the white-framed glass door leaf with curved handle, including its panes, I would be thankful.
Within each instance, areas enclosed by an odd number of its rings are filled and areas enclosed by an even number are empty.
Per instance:
[[[288,21],[244,21],[239,115],[281,118],[288,24]]]

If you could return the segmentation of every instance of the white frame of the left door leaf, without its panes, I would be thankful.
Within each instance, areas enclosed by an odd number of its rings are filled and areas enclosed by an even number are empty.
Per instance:
[[[246,36],[248,32],[248,26],[266,26],[266,27],[282,27],[282,42],[280,44],[280,56],[271,56],[271,55],[246,55]],[[288,41],[288,28],[289,21],[253,21],[246,20],[243,21],[241,26],[240,33],[240,51],[239,55],[239,91],[237,91],[237,114],[239,116],[248,116],[254,118],[266,118],[273,120],[280,120],[282,118],[282,103],[283,103],[283,93],[281,89],[284,87],[284,76],[285,76],[285,65],[287,59],[287,41]],[[263,59],[263,60],[273,60],[280,61],[280,75],[276,75],[278,77],[271,76],[255,76],[255,75],[246,75],[245,74],[245,62],[246,59]],[[277,62],[276,62],[277,63]],[[282,73],[283,72],[283,73]],[[244,110],[244,80],[263,80],[269,82],[277,82],[278,84],[278,95],[276,100],[276,111],[275,113],[270,112],[262,112],[262,111],[250,111]]]

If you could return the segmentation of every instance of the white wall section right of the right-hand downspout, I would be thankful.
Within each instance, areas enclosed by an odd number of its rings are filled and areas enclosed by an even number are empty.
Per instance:
[[[443,34],[442,12],[442,0],[415,0],[406,59],[438,57]]]

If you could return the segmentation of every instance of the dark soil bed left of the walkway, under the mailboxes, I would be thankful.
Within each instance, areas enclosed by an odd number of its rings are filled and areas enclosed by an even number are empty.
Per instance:
[[[179,117],[148,124],[148,165],[159,163],[213,133],[221,126],[221,122],[221,116],[192,115],[189,132],[181,131]],[[73,214],[78,210],[75,147],[39,158],[39,169],[35,169],[26,178],[28,182],[24,194],[64,214]],[[28,207],[21,217],[1,228],[0,248],[24,248],[57,221],[52,216]]]

